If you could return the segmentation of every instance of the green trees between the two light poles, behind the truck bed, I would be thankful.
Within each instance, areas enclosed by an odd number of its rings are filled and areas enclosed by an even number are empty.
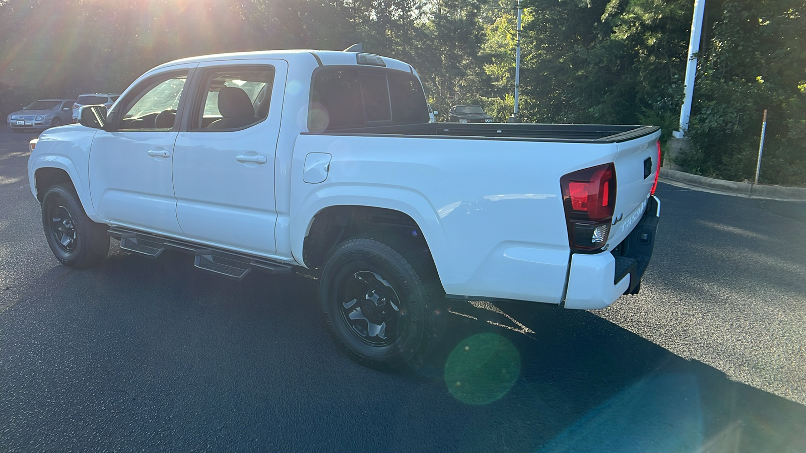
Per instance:
[[[526,0],[521,85],[538,122],[668,123],[679,109],[688,1]],[[663,126],[665,124],[659,124]]]

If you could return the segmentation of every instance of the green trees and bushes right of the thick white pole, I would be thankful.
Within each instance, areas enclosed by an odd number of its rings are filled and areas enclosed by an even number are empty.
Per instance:
[[[680,163],[732,180],[754,178],[769,110],[762,181],[806,185],[806,2],[724,0],[697,74]]]

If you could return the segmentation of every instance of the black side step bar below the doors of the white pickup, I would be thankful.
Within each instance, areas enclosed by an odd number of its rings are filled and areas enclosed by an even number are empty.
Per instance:
[[[160,256],[165,249],[181,251],[195,256],[193,265],[197,268],[235,280],[243,279],[252,269],[276,275],[290,273],[292,268],[291,264],[279,261],[168,239],[120,226],[112,226],[107,233],[115,239],[120,239],[120,248],[123,250],[134,251],[150,258]]]

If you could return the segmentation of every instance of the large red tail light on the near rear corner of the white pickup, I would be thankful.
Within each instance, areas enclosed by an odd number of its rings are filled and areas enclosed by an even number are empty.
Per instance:
[[[571,249],[604,247],[616,206],[616,168],[613,164],[584,168],[561,177],[559,184]]]

